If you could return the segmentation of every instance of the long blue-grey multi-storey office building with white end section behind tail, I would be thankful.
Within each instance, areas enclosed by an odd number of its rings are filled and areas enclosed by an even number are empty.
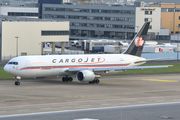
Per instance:
[[[147,39],[153,40],[156,35],[161,35],[159,16],[160,7],[144,7],[143,2],[129,6],[42,5],[42,18],[70,21],[70,39],[131,40],[142,24],[150,21]]]

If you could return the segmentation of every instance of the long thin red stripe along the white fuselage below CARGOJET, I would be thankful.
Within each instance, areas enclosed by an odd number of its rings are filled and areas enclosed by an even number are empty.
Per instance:
[[[97,66],[60,66],[60,67],[28,67],[28,68],[22,68],[21,70],[28,70],[28,69],[56,69],[56,68],[95,68],[95,67],[122,67],[122,66],[128,66],[129,64],[124,65],[97,65]]]

